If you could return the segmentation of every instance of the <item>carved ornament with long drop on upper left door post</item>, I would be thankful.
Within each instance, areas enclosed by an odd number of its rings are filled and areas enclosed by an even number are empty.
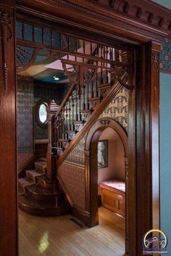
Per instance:
[[[5,94],[7,88],[7,44],[12,38],[11,30],[12,13],[7,9],[0,9],[0,26],[1,26],[1,80],[0,96]]]

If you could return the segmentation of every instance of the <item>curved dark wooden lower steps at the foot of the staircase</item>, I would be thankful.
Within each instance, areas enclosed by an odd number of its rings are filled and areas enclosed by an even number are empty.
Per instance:
[[[34,162],[33,170],[25,170],[19,178],[19,207],[32,215],[55,216],[70,212],[70,205],[57,181],[46,177],[46,159]]]

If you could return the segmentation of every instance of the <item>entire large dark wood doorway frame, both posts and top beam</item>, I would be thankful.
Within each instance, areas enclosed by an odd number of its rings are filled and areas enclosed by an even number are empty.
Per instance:
[[[111,1],[107,1],[111,2]],[[145,13],[148,1],[140,1],[141,10]],[[141,256],[141,239],[151,228],[159,228],[159,50],[161,36],[170,35],[170,26],[157,27],[151,25],[152,18],[147,17],[144,23],[138,17],[127,15],[128,8],[123,7],[122,13],[115,12],[111,7],[102,7],[99,1],[46,1],[46,0],[1,0],[0,15],[1,39],[1,131],[0,144],[0,215],[1,244],[3,255],[17,256],[17,157],[16,157],[16,79],[15,79],[15,14],[17,10],[25,10],[32,15],[43,15],[54,21],[82,30],[89,35],[99,33],[108,36],[111,41],[122,39],[140,45],[135,53],[134,90],[130,93],[129,128],[133,129],[133,137],[129,139],[128,170],[137,174],[132,182],[135,198],[131,205],[135,218],[130,216],[129,255]],[[133,0],[128,5],[133,6]],[[57,8],[54,6],[56,5]],[[97,6],[96,6],[97,5]],[[127,7],[128,7],[127,5]],[[104,11],[105,10],[105,11]],[[151,6],[152,15],[164,15],[167,25],[169,10]],[[134,12],[133,12],[134,13]],[[168,14],[169,13],[169,14]],[[4,14],[4,15],[2,15]],[[66,15],[67,14],[67,15]],[[123,17],[125,15],[125,17]],[[136,13],[136,15],[138,15]],[[144,16],[141,16],[144,18]],[[100,21],[100,22],[99,22]],[[131,24],[130,24],[131,23]],[[128,25],[129,24],[129,25]],[[80,27],[80,28],[78,28]],[[6,33],[7,32],[7,33]],[[11,33],[12,32],[12,33]],[[116,33],[115,33],[116,32]],[[97,36],[99,37],[99,36]],[[10,39],[10,40],[9,40]],[[150,42],[149,42],[150,41]],[[3,47],[2,47],[3,44]],[[4,51],[4,50],[7,51]],[[6,54],[4,54],[4,52]],[[12,58],[13,57],[13,58]],[[6,68],[7,67],[7,68]],[[3,72],[2,72],[3,71]],[[135,120],[134,122],[132,122]],[[148,177],[148,178],[147,178]],[[146,181],[146,186],[144,186]],[[135,186],[135,184],[137,186]],[[130,192],[130,191],[129,191]],[[138,198],[138,202],[137,202]],[[9,200],[10,199],[10,200]],[[141,221],[140,221],[141,220]],[[10,244],[10,246],[9,246]]]

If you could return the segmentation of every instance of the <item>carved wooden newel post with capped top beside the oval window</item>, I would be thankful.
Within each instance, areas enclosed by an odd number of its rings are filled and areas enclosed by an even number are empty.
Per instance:
[[[54,127],[54,115],[59,110],[59,105],[57,105],[54,100],[51,101],[47,107],[48,114],[48,148],[46,153],[46,162],[47,162],[47,176],[50,181],[57,180],[57,158],[53,154],[53,145],[56,142],[56,129]]]

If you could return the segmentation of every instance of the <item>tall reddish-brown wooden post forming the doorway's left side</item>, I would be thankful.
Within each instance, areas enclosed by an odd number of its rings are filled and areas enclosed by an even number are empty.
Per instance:
[[[6,4],[4,7],[3,4]],[[0,254],[17,256],[17,157],[14,1],[0,2]],[[6,23],[7,22],[7,23]],[[11,22],[10,30],[6,24]],[[4,34],[2,30],[4,29]],[[6,30],[7,29],[7,30]],[[6,30],[6,33],[5,33]],[[11,37],[8,41],[7,38]],[[7,67],[7,77],[3,69]],[[7,80],[6,80],[7,79]],[[6,83],[5,83],[6,80]]]

